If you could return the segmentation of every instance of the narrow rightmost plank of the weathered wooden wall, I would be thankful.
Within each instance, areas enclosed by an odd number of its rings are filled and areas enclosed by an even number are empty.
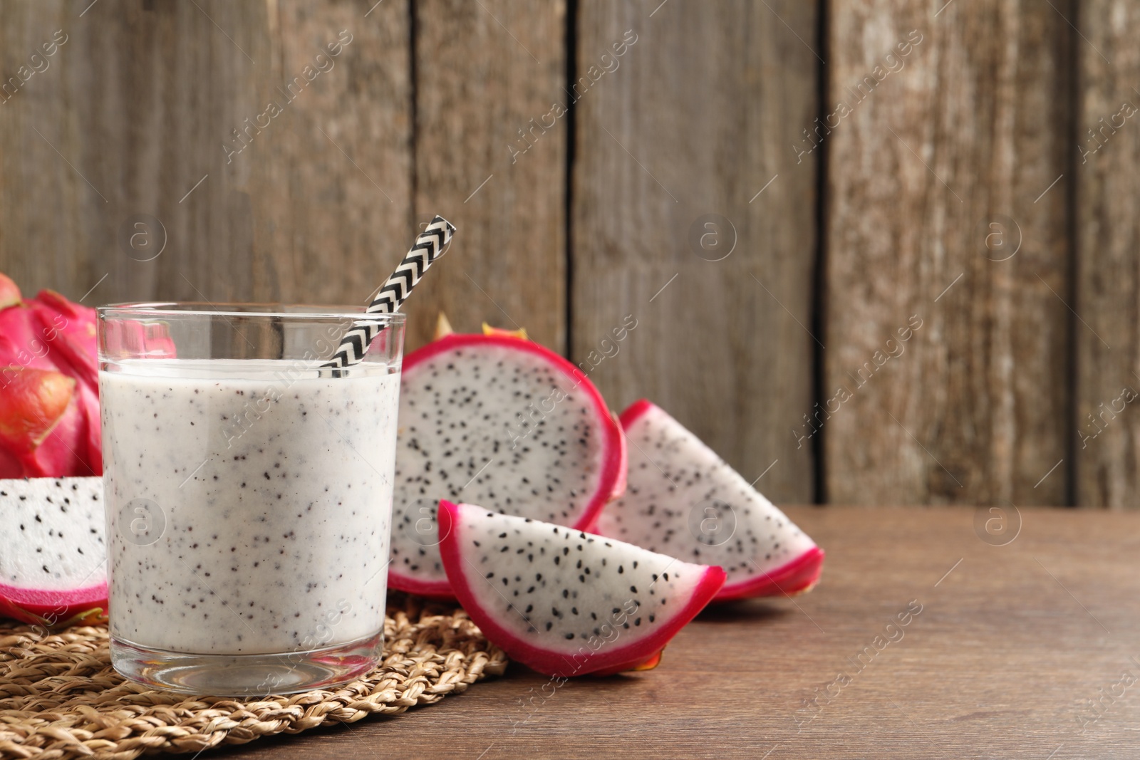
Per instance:
[[[1140,490],[1140,7],[1082,3],[1077,43],[1076,500],[1137,508]],[[1131,392],[1131,393],[1129,393]]]

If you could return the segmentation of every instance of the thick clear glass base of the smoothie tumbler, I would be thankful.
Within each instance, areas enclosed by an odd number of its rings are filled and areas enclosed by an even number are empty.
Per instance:
[[[332,688],[360,678],[380,661],[383,632],[308,652],[189,654],[111,637],[111,664],[132,681],[184,694],[267,696]]]

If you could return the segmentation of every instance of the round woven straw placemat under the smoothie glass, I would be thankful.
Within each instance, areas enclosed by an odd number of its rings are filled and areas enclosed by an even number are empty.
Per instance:
[[[392,594],[384,661],[347,686],[258,700],[187,696],[124,681],[105,626],[49,634],[0,622],[0,758],[130,760],[198,752],[391,716],[500,675],[506,655],[463,610]]]

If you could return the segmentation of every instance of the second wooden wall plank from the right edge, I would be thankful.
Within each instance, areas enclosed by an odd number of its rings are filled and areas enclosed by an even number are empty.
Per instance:
[[[1004,0],[831,24],[828,497],[1062,504],[1069,186],[1039,196],[1072,150],[1069,27]]]

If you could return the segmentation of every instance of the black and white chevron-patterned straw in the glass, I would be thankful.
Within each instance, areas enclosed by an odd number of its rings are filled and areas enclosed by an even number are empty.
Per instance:
[[[408,255],[404,256],[404,261],[380,288],[380,293],[376,294],[373,302],[368,304],[365,313],[390,314],[393,311],[399,311],[412,293],[412,288],[416,286],[427,268],[443,255],[443,246],[451,240],[454,231],[455,227],[451,222],[442,216],[437,215],[432,219],[427,228],[416,238]],[[375,322],[357,322],[341,338],[341,344],[336,348],[333,358],[321,367],[340,369],[357,363],[364,359],[368,345],[378,333],[380,327]]]

